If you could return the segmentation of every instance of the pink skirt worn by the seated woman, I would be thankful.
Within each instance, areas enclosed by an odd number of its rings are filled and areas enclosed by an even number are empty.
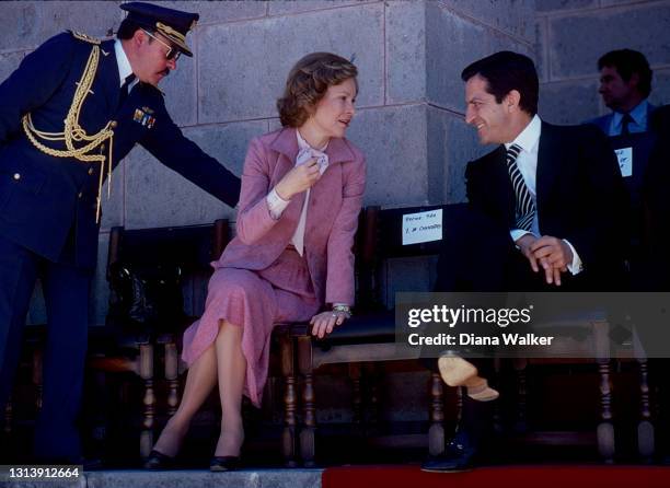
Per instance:
[[[244,394],[259,407],[273,327],[281,322],[309,321],[319,307],[307,262],[293,248],[287,248],[261,271],[219,268],[209,280],[205,313],[184,332],[182,359],[190,365],[211,347],[220,321],[242,327]]]

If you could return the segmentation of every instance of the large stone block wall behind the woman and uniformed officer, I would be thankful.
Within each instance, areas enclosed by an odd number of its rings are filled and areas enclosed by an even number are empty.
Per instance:
[[[124,13],[118,1],[16,1],[0,4],[0,78],[65,28],[104,37]],[[531,0],[160,2],[197,11],[182,58],[162,84],[187,137],[240,174],[251,138],[279,126],[275,100],[304,54],[355,56],[360,69],[358,115],[350,139],[368,156],[366,205],[461,201],[463,167],[483,152],[463,123],[461,69],[494,49],[532,54]],[[235,212],[185,182],[141,148],[114,175],[100,236],[92,322],[106,312],[103,270],[109,228],[145,228],[234,220]],[[388,297],[428,289],[432,266],[390,269]],[[36,300],[33,322],[44,321]]]

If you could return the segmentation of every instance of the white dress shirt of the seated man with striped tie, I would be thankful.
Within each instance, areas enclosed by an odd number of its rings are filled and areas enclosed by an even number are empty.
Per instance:
[[[535,206],[535,214],[533,216],[533,221],[531,223],[531,231],[524,231],[522,229],[512,229],[509,233],[511,235],[512,241],[517,242],[521,236],[525,234],[533,234],[535,237],[540,237],[540,221],[538,219],[538,196],[536,196],[536,175],[538,175],[538,149],[540,148],[540,135],[542,132],[542,120],[538,115],[533,116],[531,121],[525,129],[517,136],[517,138],[511,142],[505,143],[505,149],[508,149],[512,144],[517,144],[521,148],[521,152],[517,156],[517,166],[519,167],[519,172],[521,176],[523,176],[523,182],[528,187],[528,190],[531,194],[531,198],[533,199],[533,205]],[[581,271],[581,258],[575,251],[573,244],[570,244],[566,239],[563,240],[573,252],[573,263],[570,263],[567,268],[573,275],[577,275]]]

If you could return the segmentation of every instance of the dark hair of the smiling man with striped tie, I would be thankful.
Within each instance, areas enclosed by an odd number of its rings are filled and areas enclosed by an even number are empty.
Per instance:
[[[517,90],[521,94],[519,106],[530,115],[538,113],[540,81],[535,65],[528,56],[503,50],[473,62],[461,73],[463,81],[480,75],[486,80],[486,91],[496,97],[496,103]]]

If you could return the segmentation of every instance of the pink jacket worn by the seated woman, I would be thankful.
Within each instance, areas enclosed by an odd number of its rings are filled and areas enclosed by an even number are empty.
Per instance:
[[[328,167],[312,186],[304,231],[304,256],[322,303],[354,304],[354,235],[366,186],[362,152],[346,139],[331,139]],[[251,141],[238,211],[238,235],[215,268],[261,270],[272,265],[296,232],[305,191],[278,220],[267,208],[269,190],[294,165],[296,129],[284,128]]]

